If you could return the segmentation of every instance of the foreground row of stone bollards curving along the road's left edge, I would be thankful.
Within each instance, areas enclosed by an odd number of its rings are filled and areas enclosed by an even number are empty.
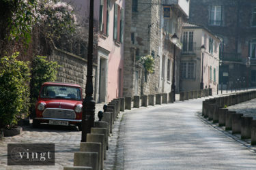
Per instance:
[[[125,109],[125,99],[113,99],[104,105],[104,113],[98,114],[98,122],[94,122],[91,133],[87,134],[86,142],[80,143],[80,151],[74,152],[74,167],[64,167],[64,170],[102,170],[106,159],[106,150],[109,149],[109,135],[120,111]],[[100,111],[101,112],[101,111]]]

